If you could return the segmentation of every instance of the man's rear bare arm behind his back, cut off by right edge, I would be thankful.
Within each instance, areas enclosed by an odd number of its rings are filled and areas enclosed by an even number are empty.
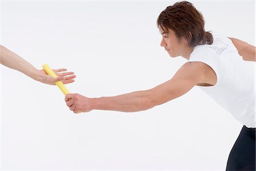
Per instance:
[[[255,61],[256,62],[256,47],[246,43],[245,41],[229,37],[232,40],[234,46],[240,56],[242,56],[245,61]]]

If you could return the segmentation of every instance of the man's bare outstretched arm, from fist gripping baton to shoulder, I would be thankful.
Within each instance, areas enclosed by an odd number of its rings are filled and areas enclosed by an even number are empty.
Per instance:
[[[65,101],[75,113],[94,109],[122,112],[147,110],[180,97],[196,84],[204,82],[207,69],[209,66],[201,62],[187,62],[181,66],[171,80],[149,90],[101,98],[86,98],[79,94],[67,94]]]

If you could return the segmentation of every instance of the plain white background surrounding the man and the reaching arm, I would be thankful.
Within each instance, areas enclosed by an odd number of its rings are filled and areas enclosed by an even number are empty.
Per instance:
[[[254,1],[191,1],[206,30],[255,45]],[[175,1],[2,1],[1,44],[36,68],[68,68],[87,97],[146,90],[170,80],[156,27]],[[1,170],[225,170],[242,128],[194,87],[161,106],[80,115],[57,86],[1,67]]]

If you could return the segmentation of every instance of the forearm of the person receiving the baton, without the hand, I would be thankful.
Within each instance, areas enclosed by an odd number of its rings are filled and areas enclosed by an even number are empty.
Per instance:
[[[26,74],[34,80],[39,80],[38,69],[2,45],[0,45],[0,62],[11,69],[15,69]]]

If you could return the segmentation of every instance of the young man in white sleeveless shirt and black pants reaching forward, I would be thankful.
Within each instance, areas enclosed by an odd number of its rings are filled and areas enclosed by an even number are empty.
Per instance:
[[[168,6],[159,15],[157,24],[163,36],[160,45],[171,57],[188,60],[171,80],[149,90],[115,97],[67,94],[65,102],[69,109],[75,113],[95,109],[142,111],[199,86],[244,125],[230,152],[226,170],[255,170],[255,76],[254,70],[243,61],[255,61],[255,47],[205,32],[203,16],[186,1]]]

